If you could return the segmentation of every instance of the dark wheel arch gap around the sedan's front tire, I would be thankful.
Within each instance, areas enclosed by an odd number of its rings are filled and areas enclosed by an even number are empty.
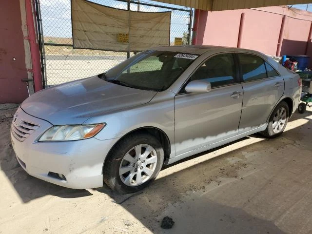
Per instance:
[[[163,150],[164,150],[164,161],[166,159],[169,159],[169,156],[170,156],[170,153],[171,153],[171,143],[170,143],[170,139],[167,136],[167,134],[164,131],[162,131],[161,129],[156,128],[156,127],[151,127],[151,126],[140,127],[140,128],[137,128],[137,129],[134,129],[134,130],[128,132],[127,134],[122,136],[119,140],[117,140],[117,142],[115,142],[115,144],[109,150],[107,156],[104,159],[103,167],[102,167],[102,174],[103,174],[103,170],[104,170],[104,166],[105,166],[106,160],[107,160],[108,156],[111,154],[111,151],[114,149],[116,144],[120,140],[124,139],[125,137],[128,137],[128,136],[130,136],[132,134],[137,134],[137,133],[148,133],[148,134],[156,137],[159,140],[159,142],[161,143],[162,147],[163,147]]]

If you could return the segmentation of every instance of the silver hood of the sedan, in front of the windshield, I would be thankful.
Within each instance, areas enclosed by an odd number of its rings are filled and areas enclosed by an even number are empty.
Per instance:
[[[82,124],[90,117],[145,104],[156,93],[110,83],[95,76],[39,91],[27,98],[21,108],[53,125]]]

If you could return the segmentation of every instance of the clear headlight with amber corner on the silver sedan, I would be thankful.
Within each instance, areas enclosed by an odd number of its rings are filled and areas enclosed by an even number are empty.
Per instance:
[[[39,141],[81,140],[95,136],[105,123],[94,125],[59,125],[48,129]]]

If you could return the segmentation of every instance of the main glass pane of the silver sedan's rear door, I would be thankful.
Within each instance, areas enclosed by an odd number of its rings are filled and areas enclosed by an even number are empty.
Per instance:
[[[244,81],[267,78],[267,72],[262,58],[250,54],[238,54],[238,58],[242,67]]]

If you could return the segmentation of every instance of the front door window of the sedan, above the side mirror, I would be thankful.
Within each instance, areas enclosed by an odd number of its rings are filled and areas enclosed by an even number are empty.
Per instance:
[[[191,76],[192,80],[207,80],[211,87],[218,87],[235,82],[236,69],[233,54],[216,55],[207,59]]]

